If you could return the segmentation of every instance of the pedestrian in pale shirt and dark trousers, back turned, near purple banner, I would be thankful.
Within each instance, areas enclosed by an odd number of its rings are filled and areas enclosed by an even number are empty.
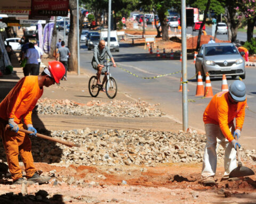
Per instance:
[[[34,47],[33,43],[29,43],[28,49],[25,53],[25,58],[27,59],[25,67],[23,67],[24,77],[30,75],[38,75],[38,59],[39,54]]]

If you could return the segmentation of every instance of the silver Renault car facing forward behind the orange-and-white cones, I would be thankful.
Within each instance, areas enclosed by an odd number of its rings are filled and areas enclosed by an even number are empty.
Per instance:
[[[207,72],[210,77],[226,74],[233,79],[237,76],[245,79],[245,64],[241,54],[231,43],[204,44],[196,56],[196,73],[201,72],[203,81]]]

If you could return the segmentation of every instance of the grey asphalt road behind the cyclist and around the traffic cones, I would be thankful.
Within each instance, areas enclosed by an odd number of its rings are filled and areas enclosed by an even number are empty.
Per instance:
[[[81,69],[87,73],[94,73],[91,66],[93,50],[88,51],[84,43],[81,43]],[[176,121],[182,122],[182,94],[179,92],[181,74],[168,75],[157,79],[142,79],[140,77],[155,77],[161,74],[169,74],[181,71],[181,62],[179,60],[163,60],[154,55],[148,54],[143,46],[132,46],[131,44],[120,44],[120,52],[112,53],[118,65],[117,68],[111,68],[111,74],[116,79],[118,87],[122,87],[122,92],[127,96],[135,99],[142,99],[151,104],[160,103],[162,111],[167,113]],[[169,55],[167,54],[167,57]],[[126,69],[139,77],[134,77],[123,71]],[[199,99],[195,97],[196,80],[195,66],[193,59],[188,60],[188,98],[196,99],[196,102],[188,103],[188,123],[189,126],[197,130],[204,131],[204,123],[202,120],[203,112],[211,98]],[[193,79],[191,79],[193,78]],[[243,80],[247,87],[247,104],[249,109],[246,109],[246,117],[242,132],[241,143],[244,146],[254,149],[256,142],[256,92],[255,92],[255,68],[246,67],[246,79]],[[234,80],[227,78],[228,84]],[[213,94],[221,90],[221,78],[211,80]],[[106,96],[107,97],[107,96]],[[253,140],[253,142],[252,142]]]

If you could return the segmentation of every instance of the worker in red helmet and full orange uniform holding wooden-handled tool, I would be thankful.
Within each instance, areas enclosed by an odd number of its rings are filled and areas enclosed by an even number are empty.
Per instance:
[[[40,176],[34,166],[31,154],[31,141],[29,136],[19,132],[20,128],[26,128],[34,132],[30,135],[36,136],[36,129],[31,121],[32,111],[37,100],[43,94],[43,87],[49,87],[59,83],[65,74],[65,67],[57,61],[49,62],[39,76],[30,75],[22,78],[9,94],[0,103],[0,135],[7,157],[7,163],[12,174],[13,184],[22,184],[25,179],[19,166],[19,154],[25,165],[27,181],[30,183],[46,183],[51,177]],[[22,123],[22,120],[25,124]],[[7,128],[9,125],[9,128]]]

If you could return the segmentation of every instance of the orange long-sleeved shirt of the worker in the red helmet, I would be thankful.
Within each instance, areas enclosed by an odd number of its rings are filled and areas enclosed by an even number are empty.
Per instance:
[[[43,88],[39,88],[38,76],[22,78],[1,102],[0,117],[5,121],[14,118],[17,124],[23,118],[26,125],[32,124],[31,114],[42,94]]]

